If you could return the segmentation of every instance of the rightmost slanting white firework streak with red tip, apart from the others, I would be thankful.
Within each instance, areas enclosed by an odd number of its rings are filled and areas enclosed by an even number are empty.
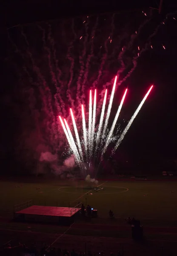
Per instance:
[[[122,142],[123,138],[125,137],[128,129],[130,128],[132,122],[134,121],[135,117],[137,116],[138,112],[140,111],[141,107],[143,106],[144,102],[146,101],[151,89],[152,89],[153,85],[151,86],[151,88],[148,90],[148,92],[146,93],[146,95],[144,96],[142,102],[140,103],[140,105],[138,106],[137,110],[134,112],[133,116],[131,117],[130,121],[128,122],[128,125],[126,126],[126,128],[123,130],[123,133],[120,135],[119,140],[117,141],[115,147],[112,150],[111,155],[113,155],[116,151],[116,149],[119,147],[120,143]]]

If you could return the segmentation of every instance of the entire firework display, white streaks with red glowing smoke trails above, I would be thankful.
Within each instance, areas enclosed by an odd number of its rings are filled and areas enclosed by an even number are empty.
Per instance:
[[[152,89],[134,114],[126,109],[127,116],[133,114],[128,122],[123,115],[126,88],[134,87],[138,95],[135,86],[154,81],[143,70],[144,53],[148,51],[151,60],[157,51],[168,54],[164,34],[173,33],[176,13],[157,15],[152,9],[132,10],[7,29],[6,65],[17,84],[12,97],[23,102],[15,136],[20,161],[45,159],[51,172],[62,175],[63,163],[74,155],[72,166],[76,163],[83,175],[96,177],[96,169],[114,155]],[[139,71],[148,78],[145,83]],[[117,95],[122,97],[118,102]]]

